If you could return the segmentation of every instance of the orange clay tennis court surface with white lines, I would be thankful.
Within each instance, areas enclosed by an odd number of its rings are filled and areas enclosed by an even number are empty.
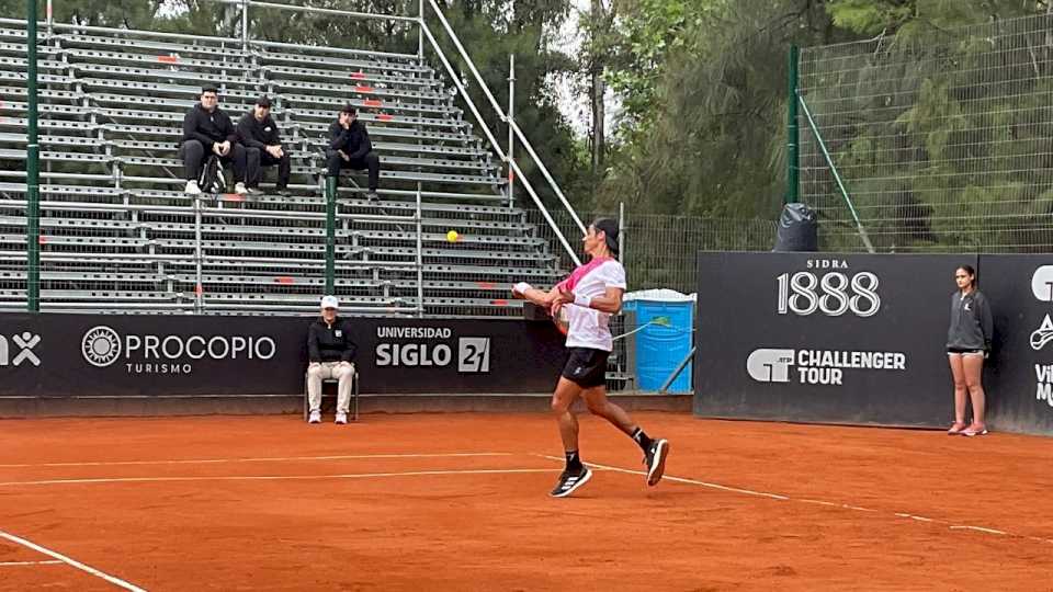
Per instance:
[[[0,589],[1051,588],[1046,439],[637,417],[567,499],[544,414],[3,421]]]

